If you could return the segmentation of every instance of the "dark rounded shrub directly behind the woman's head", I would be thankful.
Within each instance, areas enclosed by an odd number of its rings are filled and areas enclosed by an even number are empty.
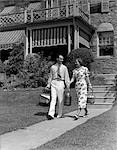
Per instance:
[[[75,68],[75,60],[80,57],[83,60],[84,66],[88,67],[90,70],[91,63],[94,62],[94,57],[90,49],[88,48],[78,48],[72,50],[66,59],[66,65],[69,69],[70,76],[72,74],[72,70]]]

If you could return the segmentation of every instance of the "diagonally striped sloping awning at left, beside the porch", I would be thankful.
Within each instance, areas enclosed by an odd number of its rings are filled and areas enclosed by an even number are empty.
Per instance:
[[[24,41],[24,36],[24,30],[0,32],[0,50],[12,49],[14,44]]]

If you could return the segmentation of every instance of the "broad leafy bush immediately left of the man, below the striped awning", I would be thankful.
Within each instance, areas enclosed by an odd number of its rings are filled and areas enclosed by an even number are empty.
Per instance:
[[[53,64],[42,54],[29,54],[24,60],[23,70],[18,77],[23,78],[24,87],[36,88],[47,84],[50,66]]]

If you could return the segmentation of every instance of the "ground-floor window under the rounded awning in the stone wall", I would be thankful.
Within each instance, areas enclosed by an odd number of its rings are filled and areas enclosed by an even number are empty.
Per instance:
[[[99,56],[113,56],[114,54],[114,40],[113,32],[100,32],[98,33],[99,46],[98,55]]]

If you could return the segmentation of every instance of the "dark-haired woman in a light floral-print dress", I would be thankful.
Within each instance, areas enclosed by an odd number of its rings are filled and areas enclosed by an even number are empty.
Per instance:
[[[87,111],[87,90],[92,89],[89,71],[87,67],[83,66],[82,59],[77,58],[75,61],[76,68],[73,70],[73,75],[70,84],[75,81],[75,89],[78,98],[78,112],[74,116],[75,120],[79,119],[79,114],[82,109],[85,110],[85,115],[88,114]]]

